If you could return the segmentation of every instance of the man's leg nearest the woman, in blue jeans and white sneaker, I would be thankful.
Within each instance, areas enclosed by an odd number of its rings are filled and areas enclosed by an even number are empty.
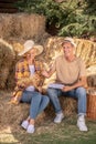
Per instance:
[[[61,90],[56,90],[56,89],[47,89],[47,95],[54,106],[55,113],[56,113],[56,117],[54,119],[55,123],[61,123],[64,115],[62,112],[62,107],[60,104],[60,100],[58,96],[62,94]]]

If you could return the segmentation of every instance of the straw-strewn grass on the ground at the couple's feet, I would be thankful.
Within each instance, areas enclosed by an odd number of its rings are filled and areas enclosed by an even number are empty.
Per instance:
[[[76,127],[76,117],[67,117],[61,124],[51,120],[36,127],[34,134],[20,132],[0,132],[0,144],[96,144],[96,121],[88,121],[88,132],[79,132]]]

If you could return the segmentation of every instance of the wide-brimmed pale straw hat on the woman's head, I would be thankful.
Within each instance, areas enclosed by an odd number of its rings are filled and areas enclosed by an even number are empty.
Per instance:
[[[19,53],[19,55],[23,55],[26,52],[29,52],[31,49],[36,49],[36,55],[41,54],[43,52],[43,47],[34,44],[34,41],[26,40],[23,44],[24,49]]]

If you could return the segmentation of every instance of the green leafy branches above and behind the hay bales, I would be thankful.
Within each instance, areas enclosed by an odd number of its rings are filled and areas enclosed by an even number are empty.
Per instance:
[[[58,35],[93,35],[96,31],[96,2],[94,0],[21,0],[17,2],[20,11],[46,17],[49,27],[57,29]]]

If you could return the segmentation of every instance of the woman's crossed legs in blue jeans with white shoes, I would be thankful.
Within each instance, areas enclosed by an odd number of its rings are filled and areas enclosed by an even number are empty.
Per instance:
[[[39,92],[28,92],[24,91],[22,102],[31,103],[30,105],[30,116],[22,122],[21,126],[26,130],[28,133],[34,132],[34,120],[36,115],[42,112],[49,103],[49,97]]]

